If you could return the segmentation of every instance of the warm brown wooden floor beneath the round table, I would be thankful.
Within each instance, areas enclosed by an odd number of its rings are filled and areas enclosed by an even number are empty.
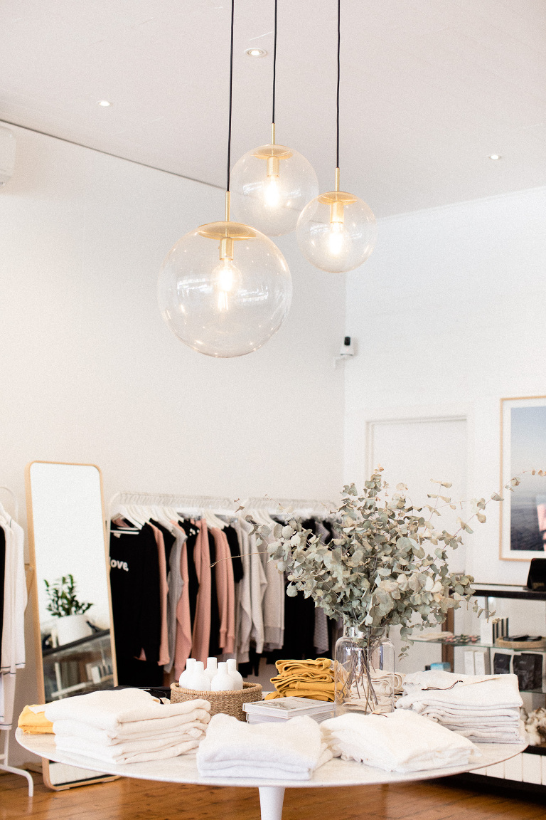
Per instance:
[[[0,820],[259,820],[257,789],[171,786],[126,778],[68,791],[0,775]],[[287,789],[283,820],[535,820],[546,805],[445,781],[347,789]]]

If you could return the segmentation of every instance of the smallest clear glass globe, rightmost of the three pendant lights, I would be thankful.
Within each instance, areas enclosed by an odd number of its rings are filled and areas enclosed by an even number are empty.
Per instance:
[[[344,273],[366,262],[376,244],[371,208],[354,194],[328,191],[301,212],[296,227],[300,251],[312,265]]]

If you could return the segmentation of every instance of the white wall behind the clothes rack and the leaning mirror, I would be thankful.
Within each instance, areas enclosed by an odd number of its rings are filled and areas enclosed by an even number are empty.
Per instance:
[[[282,239],[294,280],[284,326],[246,357],[201,356],[161,320],[156,278],[181,235],[222,217],[223,192],[14,130],[16,171],[0,189],[0,484],[21,517],[34,459],[96,463],[106,499],[336,496],[342,280]],[[16,708],[35,697],[30,635],[27,647]]]

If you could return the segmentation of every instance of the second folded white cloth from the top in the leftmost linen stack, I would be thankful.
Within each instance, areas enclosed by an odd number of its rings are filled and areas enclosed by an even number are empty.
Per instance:
[[[164,717],[147,721],[124,723],[119,730],[97,729],[77,720],[58,720],[53,723],[53,731],[58,736],[81,737],[92,743],[115,745],[129,740],[179,737],[190,728],[205,729],[210,721],[210,713],[205,709],[193,709],[187,715]]]

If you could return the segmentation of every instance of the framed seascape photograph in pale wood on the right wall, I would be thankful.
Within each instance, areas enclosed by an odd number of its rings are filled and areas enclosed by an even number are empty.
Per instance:
[[[500,558],[546,558],[546,478],[531,475],[546,470],[546,396],[501,399],[500,417]],[[511,493],[504,485],[514,476]]]

